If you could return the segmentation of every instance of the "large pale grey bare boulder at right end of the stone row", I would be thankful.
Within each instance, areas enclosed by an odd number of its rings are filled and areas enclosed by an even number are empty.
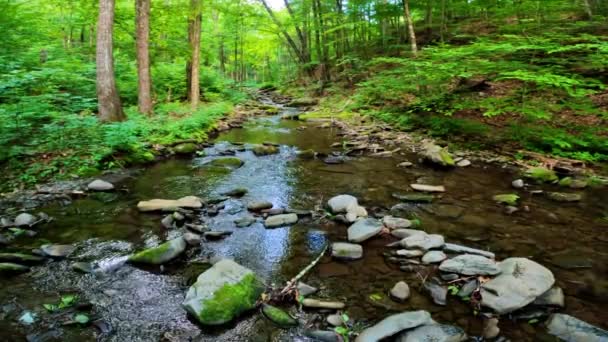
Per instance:
[[[498,264],[500,275],[481,287],[481,305],[506,314],[533,302],[555,283],[553,273],[526,258],[509,258]]]

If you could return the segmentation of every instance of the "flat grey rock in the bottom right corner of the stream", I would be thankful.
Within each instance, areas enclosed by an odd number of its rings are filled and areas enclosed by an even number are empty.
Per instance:
[[[547,330],[551,335],[567,342],[608,341],[608,331],[565,314],[551,315],[547,321]]]

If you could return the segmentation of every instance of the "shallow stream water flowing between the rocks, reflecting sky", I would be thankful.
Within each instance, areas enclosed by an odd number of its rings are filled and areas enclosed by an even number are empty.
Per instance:
[[[293,112],[284,108],[284,112]],[[281,114],[283,114],[281,113]],[[330,197],[348,193],[372,213],[386,213],[399,203],[394,192],[407,191],[408,185],[423,177],[426,182],[443,184],[447,192],[433,204],[411,205],[427,232],[443,234],[446,240],[488,249],[498,259],[510,256],[533,258],[549,267],[557,284],[566,293],[563,310],[589,323],[608,328],[608,213],[606,189],[584,190],[580,203],[551,202],[543,196],[518,191],[529,210],[512,215],[491,198],[513,192],[511,180],[517,175],[489,165],[474,165],[438,171],[416,165],[400,169],[396,165],[414,155],[395,158],[354,157],[340,165],[297,157],[298,150],[331,152],[331,144],[341,137],[332,128],[318,123],[285,121],[279,116],[253,119],[243,128],[216,138],[205,157],[170,159],[155,164],[122,182],[115,195],[91,196],[71,205],[53,205],[43,211],[55,220],[41,228],[34,238],[19,238],[11,248],[27,250],[45,242],[73,243],[78,249],[72,259],[95,262],[101,272],[79,274],[70,269],[71,261],[54,261],[31,272],[0,279],[0,340],[19,341],[29,334],[37,341],[88,341],[99,333],[93,327],[62,326],[61,319],[49,315],[44,303],[56,302],[61,295],[76,293],[93,304],[95,318],[111,327],[101,336],[107,341],[292,341],[305,340],[302,328],[283,331],[259,313],[244,315],[228,326],[202,328],[190,321],[180,304],[192,279],[209,267],[212,256],[224,256],[251,268],[269,284],[284,284],[306,266],[328,241],[345,241],[346,226],[326,220],[304,219],[289,228],[265,229],[261,222],[248,228],[235,228],[233,220],[246,215],[244,205],[252,200],[269,200],[275,207],[321,208]],[[280,144],[280,153],[256,157],[250,151],[237,152],[245,161],[231,173],[216,173],[200,167],[217,158],[231,143]],[[240,146],[240,145],[239,145]],[[238,147],[238,146],[237,146]],[[249,192],[230,199],[215,217],[204,221],[214,230],[232,231],[219,241],[204,242],[200,250],[189,250],[183,260],[162,269],[141,269],[122,265],[124,256],[175,236],[160,225],[161,215],[142,214],[140,200],[178,198],[196,195],[209,198],[237,187]],[[547,185],[539,189],[551,190]],[[563,190],[562,190],[563,191]],[[319,223],[321,222],[321,223]],[[365,256],[353,262],[337,262],[325,256],[305,277],[321,288],[318,297],[345,301],[349,316],[372,323],[390,313],[425,309],[437,321],[458,325],[470,335],[479,336],[482,319],[454,297],[447,306],[432,303],[419,290],[417,274],[406,273],[387,263],[384,246],[396,239],[381,236],[364,243]],[[72,260],[73,261],[73,260]],[[120,267],[119,267],[120,266]],[[412,288],[412,297],[403,304],[377,294],[400,280]],[[370,295],[376,298],[373,300]],[[24,326],[18,318],[24,311],[37,314],[37,323]],[[303,320],[322,322],[315,312],[302,314]],[[509,317],[500,321],[502,333],[513,341],[551,340],[541,325]]]

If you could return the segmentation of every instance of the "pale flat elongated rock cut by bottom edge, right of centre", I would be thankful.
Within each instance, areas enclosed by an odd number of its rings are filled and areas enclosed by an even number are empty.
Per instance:
[[[402,312],[389,316],[376,325],[363,330],[361,334],[357,336],[355,342],[378,342],[403,330],[432,323],[433,320],[431,319],[431,315],[426,311]]]

